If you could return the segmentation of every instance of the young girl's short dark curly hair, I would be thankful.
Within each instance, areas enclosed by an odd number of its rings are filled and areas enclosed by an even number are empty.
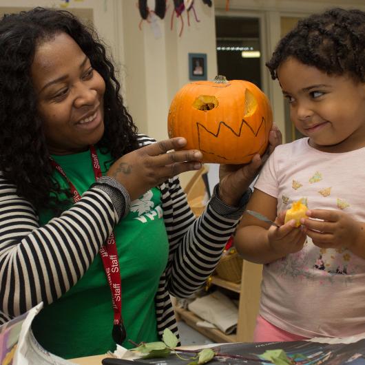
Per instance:
[[[364,83],[365,12],[333,8],[298,21],[266,64],[273,79],[290,56],[327,74],[348,74]]]

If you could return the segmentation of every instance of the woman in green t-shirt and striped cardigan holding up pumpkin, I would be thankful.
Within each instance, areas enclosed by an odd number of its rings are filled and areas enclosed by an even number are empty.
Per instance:
[[[222,167],[195,220],[174,176],[200,169],[201,153],[136,134],[92,30],[61,10],[11,14],[0,54],[3,322],[43,301],[34,335],[66,358],[177,333],[169,294],[213,271],[260,156]]]

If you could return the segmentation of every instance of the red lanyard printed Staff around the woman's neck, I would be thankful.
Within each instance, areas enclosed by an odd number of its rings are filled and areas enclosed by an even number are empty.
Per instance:
[[[102,176],[102,174],[99,165],[98,155],[96,154],[96,149],[94,146],[90,146],[90,154],[92,158],[92,169],[94,170],[95,180],[97,180]],[[74,184],[72,184],[69,178],[67,178],[65,171],[63,171],[62,167],[53,159],[51,159],[51,162],[56,170],[59,171],[59,173],[67,181],[74,202],[78,202],[81,199],[79,191],[76,190]],[[112,337],[117,344],[122,344],[122,342],[125,340],[126,333],[122,317],[121,270],[119,269],[118,252],[116,251],[114,232],[110,233],[110,236],[107,238],[107,244],[104,244],[101,247],[99,253],[101,255],[101,260],[103,260],[105,274],[107,275],[107,282],[110,286],[110,291],[112,292],[112,304],[114,310],[114,325]]]

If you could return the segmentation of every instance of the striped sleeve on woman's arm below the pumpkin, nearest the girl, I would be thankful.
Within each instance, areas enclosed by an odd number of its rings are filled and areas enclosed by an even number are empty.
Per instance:
[[[155,141],[140,136],[140,143]],[[169,236],[169,263],[165,271],[171,295],[187,298],[194,293],[216,268],[227,240],[231,237],[244,211],[251,191],[242,197],[240,207],[225,205],[218,198],[217,188],[200,218],[196,219],[187,202],[178,178],[160,186],[163,218]],[[161,289],[160,302],[165,300]]]

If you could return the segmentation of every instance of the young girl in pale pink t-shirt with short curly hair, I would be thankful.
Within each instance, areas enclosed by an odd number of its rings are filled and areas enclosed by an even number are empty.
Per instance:
[[[264,264],[254,340],[365,332],[365,13],[335,8],[298,23],[267,66],[306,136],[275,149],[235,243]],[[295,228],[284,213],[302,199]]]

